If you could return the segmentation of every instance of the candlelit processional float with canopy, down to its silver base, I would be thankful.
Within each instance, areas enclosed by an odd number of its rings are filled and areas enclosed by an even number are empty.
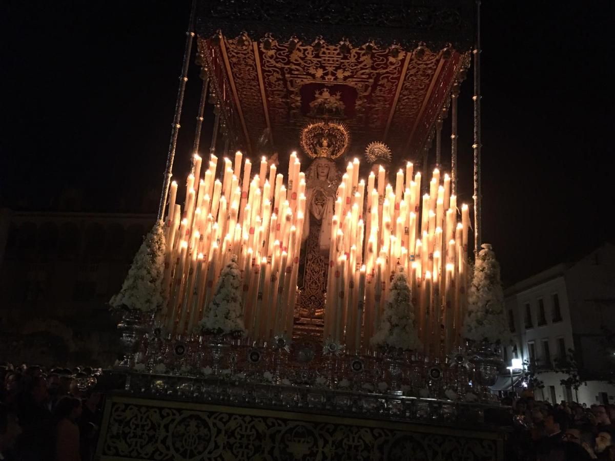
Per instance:
[[[161,302],[122,322],[126,388],[484,422],[499,359],[464,335],[481,243],[477,16],[473,1],[194,2],[153,231]],[[178,178],[195,39],[202,91]],[[474,191],[462,203],[472,55]]]

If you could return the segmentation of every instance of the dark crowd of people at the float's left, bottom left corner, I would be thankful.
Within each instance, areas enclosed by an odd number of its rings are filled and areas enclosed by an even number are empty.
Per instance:
[[[0,461],[91,461],[102,416],[92,368],[0,365]]]

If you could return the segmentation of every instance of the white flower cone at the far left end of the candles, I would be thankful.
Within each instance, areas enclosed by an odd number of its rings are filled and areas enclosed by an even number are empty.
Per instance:
[[[112,309],[151,313],[162,308],[167,301],[162,286],[166,247],[164,223],[158,221],[135,254],[122,289],[109,300]]]

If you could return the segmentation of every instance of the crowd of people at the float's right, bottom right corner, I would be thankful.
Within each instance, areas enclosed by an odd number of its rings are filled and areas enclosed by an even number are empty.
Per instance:
[[[514,431],[510,459],[518,461],[615,461],[615,405],[554,405],[531,396],[504,398]]]

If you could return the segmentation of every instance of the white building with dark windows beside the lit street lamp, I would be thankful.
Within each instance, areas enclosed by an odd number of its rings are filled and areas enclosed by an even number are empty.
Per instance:
[[[607,243],[577,262],[539,272],[504,294],[516,342],[504,350],[504,361],[535,363],[544,382],[536,399],[576,400],[574,390],[560,383],[568,376],[554,371],[557,360],[573,349],[587,380],[578,390],[579,403],[615,402],[615,385],[603,380],[615,367],[615,356],[605,347],[602,330],[615,331],[615,245]]]

